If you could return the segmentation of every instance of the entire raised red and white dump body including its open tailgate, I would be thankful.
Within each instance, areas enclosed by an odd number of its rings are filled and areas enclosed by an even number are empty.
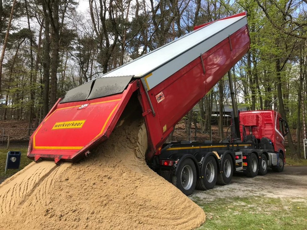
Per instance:
[[[173,127],[247,52],[246,13],[195,28],[58,100],[30,138],[28,157],[75,161],[106,140],[137,92],[152,159]]]

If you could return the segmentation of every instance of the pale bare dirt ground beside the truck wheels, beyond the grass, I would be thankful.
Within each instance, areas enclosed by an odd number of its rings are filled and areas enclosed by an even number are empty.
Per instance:
[[[307,166],[285,166],[282,173],[269,169],[265,176],[247,178],[236,175],[229,185],[218,186],[209,191],[196,190],[191,199],[212,201],[216,198],[263,196],[272,198],[306,198]]]

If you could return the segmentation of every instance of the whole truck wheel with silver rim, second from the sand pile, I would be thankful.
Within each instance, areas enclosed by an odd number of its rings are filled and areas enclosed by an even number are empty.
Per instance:
[[[217,164],[213,156],[208,156],[202,164],[200,177],[196,182],[197,189],[209,190],[214,188],[217,180]]]

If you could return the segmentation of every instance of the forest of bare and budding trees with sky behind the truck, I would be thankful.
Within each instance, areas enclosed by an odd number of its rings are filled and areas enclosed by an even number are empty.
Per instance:
[[[236,101],[277,110],[298,159],[307,109],[306,10],[307,0],[0,0],[0,119],[26,120],[30,134],[66,91],[195,25],[247,11],[251,49],[231,70]],[[213,105],[231,105],[227,76],[196,105],[203,131],[211,130]],[[189,140],[192,110],[185,118]]]

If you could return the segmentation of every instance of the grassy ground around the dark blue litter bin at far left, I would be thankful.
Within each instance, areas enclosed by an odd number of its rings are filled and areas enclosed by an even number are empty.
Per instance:
[[[27,158],[27,147],[11,147],[9,149],[10,151],[21,151],[21,161],[20,161],[20,170],[23,169],[25,166],[27,166],[29,163],[32,162],[29,158]],[[5,147],[0,147],[0,177],[4,176],[4,171],[5,171],[5,164],[6,164],[6,155],[7,155],[8,150],[6,150]],[[6,177],[9,177],[16,173],[18,170],[17,169],[8,169],[6,171]]]

